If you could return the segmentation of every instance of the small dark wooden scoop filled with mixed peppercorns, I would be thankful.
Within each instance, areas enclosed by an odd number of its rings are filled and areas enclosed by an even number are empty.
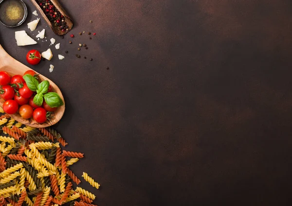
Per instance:
[[[41,16],[45,19],[45,21],[48,23],[48,25],[54,31],[55,34],[64,35],[72,29],[73,21],[69,17],[69,15],[67,14],[66,10],[61,6],[61,4],[59,3],[58,0],[51,0],[51,2],[54,4],[56,9],[61,13],[61,15],[63,15],[65,17],[65,22],[67,23],[67,26],[68,26],[68,30],[65,30],[65,32],[62,32],[58,26],[55,26],[54,24],[52,24],[52,22],[48,19],[48,17],[45,15],[45,13],[42,11],[42,9],[39,7],[36,0],[30,0],[30,1],[34,4],[38,13],[41,14]]]

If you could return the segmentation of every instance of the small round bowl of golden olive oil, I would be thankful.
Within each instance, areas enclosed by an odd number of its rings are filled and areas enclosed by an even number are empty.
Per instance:
[[[22,0],[0,0],[0,21],[5,26],[19,26],[26,17],[27,8]]]

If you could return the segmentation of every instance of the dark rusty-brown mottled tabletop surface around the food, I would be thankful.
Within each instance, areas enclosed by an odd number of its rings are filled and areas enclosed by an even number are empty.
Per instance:
[[[0,25],[2,46],[24,64],[49,45],[16,46],[14,32],[35,19],[25,1],[25,25]],[[60,51],[32,68],[64,93],[58,130],[86,155],[73,172],[102,185],[81,184],[96,204],[291,205],[291,0],[60,2],[75,38],[55,36]]]

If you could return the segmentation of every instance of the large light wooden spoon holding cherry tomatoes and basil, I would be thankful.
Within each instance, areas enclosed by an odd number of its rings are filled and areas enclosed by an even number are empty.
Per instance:
[[[21,64],[17,60],[15,60],[12,56],[10,56],[0,45],[0,71],[7,71],[11,76],[15,74],[20,74],[23,75],[25,71],[27,70],[33,70],[28,68],[27,66]],[[53,91],[58,93],[58,95],[61,97],[63,100],[64,105],[60,106],[57,108],[57,110],[52,114],[53,118],[51,120],[47,120],[46,122],[40,124],[37,123],[33,118],[25,120],[23,119],[18,113],[15,113],[13,115],[10,115],[13,119],[21,122],[22,124],[31,126],[31,127],[37,127],[37,128],[42,128],[42,127],[48,127],[52,126],[53,124],[57,123],[63,116],[65,112],[65,101],[64,97],[59,89],[58,86],[55,85],[54,82],[46,78],[45,76],[39,74],[39,79],[41,81],[48,80],[50,82],[50,85],[53,87]],[[5,101],[1,98],[0,99],[0,106],[3,106],[3,103]]]

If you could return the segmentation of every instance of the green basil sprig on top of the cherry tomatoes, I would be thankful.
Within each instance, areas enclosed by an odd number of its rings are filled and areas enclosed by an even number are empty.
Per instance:
[[[64,104],[57,93],[47,93],[50,86],[49,81],[45,80],[41,83],[38,83],[37,79],[30,74],[24,75],[23,79],[25,80],[26,85],[30,90],[37,92],[36,96],[34,97],[34,103],[37,104],[37,106],[40,106],[44,99],[50,107],[58,107]]]

